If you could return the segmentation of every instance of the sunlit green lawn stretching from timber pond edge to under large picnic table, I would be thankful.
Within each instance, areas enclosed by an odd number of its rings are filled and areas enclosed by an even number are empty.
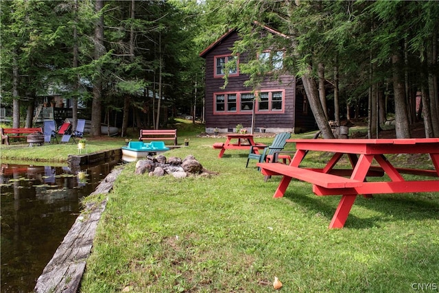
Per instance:
[[[275,276],[283,292],[413,292],[439,283],[438,194],[358,197],[345,227],[328,230],[340,196],[315,196],[293,180],[274,199],[279,177],[265,183],[254,160],[245,167],[245,151],[218,159],[212,144],[224,138],[186,127],[179,140],[190,138],[189,148],[165,155],[193,154],[218,175],[155,178],[127,164],[108,196],[81,292],[270,292]],[[309,159],[318,165],[325,155]]]

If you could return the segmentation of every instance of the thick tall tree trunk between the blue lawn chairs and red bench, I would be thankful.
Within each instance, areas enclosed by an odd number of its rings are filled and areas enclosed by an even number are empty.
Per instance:
[[[101,13],[104,7],[103,0],[95,1],[96,13]],[[95,60],[99,60],[104,54],[104,15],[100,15],[95,24]],[[91,136],[96,137],[101,134],[102,119],[102,69],[97,68],[97,78],[93,84],[93,102],[91,104]]]

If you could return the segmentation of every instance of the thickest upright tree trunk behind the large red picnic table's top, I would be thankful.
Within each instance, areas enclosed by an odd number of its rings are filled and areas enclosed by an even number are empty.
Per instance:
[[[410,128],[405,103],[404,78],[401,77],[401,57],[398,53],[392,56],[393,91],[395,102],[395,132],[397,139],[410,139]]]

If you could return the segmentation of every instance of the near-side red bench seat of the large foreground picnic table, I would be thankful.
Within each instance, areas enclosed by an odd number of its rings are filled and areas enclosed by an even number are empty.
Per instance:
[[[363,181],[322,173],[313,169],[292,167],[281,163],[257,163],[257,165],[261,167],[262,174],[266,176],[285,175],[325,188],[350,188],[363,185]]]

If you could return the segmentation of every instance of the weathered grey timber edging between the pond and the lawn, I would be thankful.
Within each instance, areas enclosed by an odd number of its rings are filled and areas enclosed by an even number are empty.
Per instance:
[[[123,166],[113,169],[91,195],[108,194],[122,170]],[[87,204],[38,277],[34,292],[78,292],[106,202],[107,198]]]

